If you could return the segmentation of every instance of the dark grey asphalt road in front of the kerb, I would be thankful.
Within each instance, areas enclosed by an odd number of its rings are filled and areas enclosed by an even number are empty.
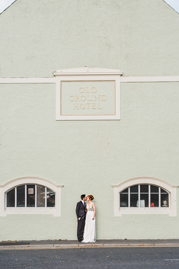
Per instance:
[[[171,266],[179,268],[179,247],[0,250],[0,269],[165,269]]]

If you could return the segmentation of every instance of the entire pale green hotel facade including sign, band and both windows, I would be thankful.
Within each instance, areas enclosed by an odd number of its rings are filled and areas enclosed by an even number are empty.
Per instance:
[[[179,238],[178,23],[163,0],[0,14],[1,241],[76,239],[81,194],[97,239]]]

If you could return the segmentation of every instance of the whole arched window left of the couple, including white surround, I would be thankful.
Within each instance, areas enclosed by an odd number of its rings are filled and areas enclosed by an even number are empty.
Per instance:
[[[0,216],[61,216],[61,187],[39,177],[16,178],[0,186]],[[3,210],[2,210],[3,209]]]

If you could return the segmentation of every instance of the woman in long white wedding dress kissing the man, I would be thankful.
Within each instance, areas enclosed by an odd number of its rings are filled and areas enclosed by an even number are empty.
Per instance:
[[[96,227],[95,227],[95,213],[96,207],[92,202],[94,197],[92,195],[87,196],[87,213],[85,220],[85,230],[84,230],[84,239],[82,242],[95,242],[96,239]]]

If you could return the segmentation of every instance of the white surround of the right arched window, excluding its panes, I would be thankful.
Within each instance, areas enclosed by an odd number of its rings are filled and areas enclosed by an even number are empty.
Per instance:
[[[120,207],[120,192],[133,185],[150,184],[161,187],[169,193],[169,207]],[[153,177],[136,177],[125,180],[119,185],[111,185],[114,188],[114,217],[122,215],[169,215],[177,216],[176,188],[170,183]]]

